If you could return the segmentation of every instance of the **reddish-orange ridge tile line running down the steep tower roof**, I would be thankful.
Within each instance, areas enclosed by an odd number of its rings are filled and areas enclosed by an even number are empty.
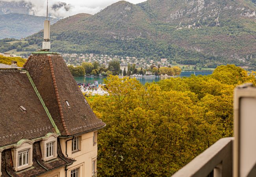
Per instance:
[[[57,98],[57,102],[58,102],[59,114],[61,116],[61,123],[64,127],[64,130],[65,130],[66,134],[69,135],[69,131],[68,131],[67,126],[65,124],[65,120],[64,120],[64,116],[63,116],[63,112],[62,112],[62,106],[61,106],[61,103],[60,103],[60,100],[59,100],[59,92],[58,92],[58,87],[57,87],[56,79],[55,79],[55,75],[54,75],[54,70],[53,70],[53,65],[52,65],[52,58],[51,58],[50,55],[48,55],[48,61],[50,63],[52,81],[53,81],[54,90],[55,90],[55,94],[56,94],[56,98]]]

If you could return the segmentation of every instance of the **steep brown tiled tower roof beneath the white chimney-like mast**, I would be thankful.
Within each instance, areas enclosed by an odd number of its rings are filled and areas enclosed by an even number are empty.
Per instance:
[[[106,125],[85,103],[60,54],[32,54],[24,68],[30,73],[62,136],[78,135]],[[70,107],[65,101],[69,102]]]

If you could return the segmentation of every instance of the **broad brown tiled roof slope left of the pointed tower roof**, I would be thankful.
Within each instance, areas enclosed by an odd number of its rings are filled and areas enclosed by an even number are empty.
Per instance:
[[[54,133],[53,125],[26,72],[0,70],[0,147],[50,132]]]

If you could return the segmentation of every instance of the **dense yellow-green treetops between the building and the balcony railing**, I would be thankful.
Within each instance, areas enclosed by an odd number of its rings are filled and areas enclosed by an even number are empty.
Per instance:
[[[110,96],[87,99],[106,122],[98,133],[98,176],[170,176],[223,137],[233,135],[233,89],[255,81],[234,65],[210,76],[141,85],[109,76]]]

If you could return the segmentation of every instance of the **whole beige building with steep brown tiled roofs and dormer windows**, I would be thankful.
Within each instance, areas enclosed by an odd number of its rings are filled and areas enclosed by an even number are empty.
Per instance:
[[[91,110],[60,53],[33,52],[24,68],[0,68],[0,175],[97,175]]]

